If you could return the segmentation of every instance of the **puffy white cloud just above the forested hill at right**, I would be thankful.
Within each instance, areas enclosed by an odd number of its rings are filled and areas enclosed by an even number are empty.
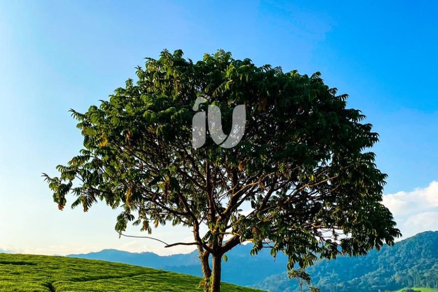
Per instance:
[[[383,204],[392,212],[403,237],[438,230],[438,182],[411,192],[383,196]]]

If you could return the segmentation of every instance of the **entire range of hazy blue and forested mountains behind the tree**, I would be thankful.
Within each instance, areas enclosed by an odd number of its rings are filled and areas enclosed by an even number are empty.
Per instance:
[[[294,280],[286,275],[287,257],[277,258],[262,251],[250,256],[251,245],[239,245],[223,263],[225,282],[272,292],[298,291]],[[201,276],[197,252],[172,256],[154,253],[129,253],[103,250],[97,253],[69,255],[89,259],[128,263],[166,271]],[[423,232],[404,239],[394,246],[384,246],[380,252],[367,256],[341,256],[336,260],[321,260],[308,269],[313,285],[322,292],[378,292],[404,287],[438,288],[438,231]]]

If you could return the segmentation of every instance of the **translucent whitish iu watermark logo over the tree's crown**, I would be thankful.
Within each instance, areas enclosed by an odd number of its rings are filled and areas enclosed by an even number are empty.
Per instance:
[[[199,110],[199,106],[208,102],[208,96],[201,95],[193,106],[194,111]],[[233,125],[231,132],[227,136],[222,131],[222,116],[220,109],[216,105],[208,105],[205,111],[197,112],[192,119],[192,146],[199,148],[205,144],[207,126],[213,141],[222,148],[232,148],[242,140],[246,124],[245,105],[238,105],[233,110]]]

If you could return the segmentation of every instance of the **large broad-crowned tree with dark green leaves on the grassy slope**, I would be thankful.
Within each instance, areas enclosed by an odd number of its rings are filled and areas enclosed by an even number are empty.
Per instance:
[[[148,233],[151,224],[189,226],[192,242],[167,246],[197,246],[211,292],[220,289],[222,256],[244,241],[254,243],[253,255],[284,252],[292,269],[319,257],[364,255],[400,236],[381,203],[386,175],[366,151],[378,134],[320,73],[257,67],[223,50],[194,63],[178,50],[146,58],[137,76],[99,107],[71,110],[84,148],[57,166],[59,176],[43,174],[59,209],[72,193],[72,206],[84,211],[98,201],[121,206],[118,232],[128,222]],[[237,146],[206,139],[192,147],[200,96],[220,108],[224,132],[234,107],[245,105]]]

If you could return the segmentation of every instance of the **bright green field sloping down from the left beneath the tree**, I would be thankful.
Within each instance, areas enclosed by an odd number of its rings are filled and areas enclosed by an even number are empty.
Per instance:
[[[187,292],[200,278],[99,260],[0,254],[0,292]],[[224,283],[224,292],[259,290]]]

